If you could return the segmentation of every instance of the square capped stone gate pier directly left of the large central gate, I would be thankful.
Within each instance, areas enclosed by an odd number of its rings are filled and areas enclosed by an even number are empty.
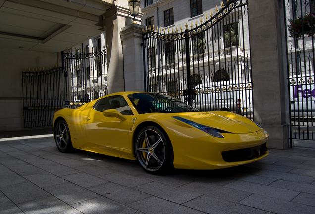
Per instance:
[[[139,24],[131,24],[120,32],[126,91],[144,91],[142,27]]]

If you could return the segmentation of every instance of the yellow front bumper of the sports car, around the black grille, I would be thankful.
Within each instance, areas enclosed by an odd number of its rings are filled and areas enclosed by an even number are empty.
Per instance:
[[[224,133],[224,138],[201,137],[198,139],[172,140],[174,167],[179,169],[221,169],[239,166],[268,156],[268,136],[263,130],[246,134]],[[261,150],[258,152],[258,148]],[[253,154],[246,153],[251,151]],[[245,151],[245,153],[244,153]],[[243,155],[238,152],[243,152]],[[255,154],[259,153],[259,154]],[[232,157],[226,158],[226,154]]]

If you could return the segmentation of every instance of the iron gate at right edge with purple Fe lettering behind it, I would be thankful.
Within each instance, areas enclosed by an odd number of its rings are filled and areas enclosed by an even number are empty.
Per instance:
[[[284,0],[288,47],[290,138],[300,146],[315,140],[315,0]]]

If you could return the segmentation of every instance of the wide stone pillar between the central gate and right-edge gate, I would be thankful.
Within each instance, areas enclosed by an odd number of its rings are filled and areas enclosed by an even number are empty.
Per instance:
[[[289,146],[289,98],[282,0],[249,0],[255,121],[269,132],[270,148]]]

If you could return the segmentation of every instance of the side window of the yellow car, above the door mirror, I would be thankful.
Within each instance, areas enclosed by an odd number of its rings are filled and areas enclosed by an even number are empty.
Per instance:
[[[94,109],[103,112],[108,109],[116,109],[122,115],[133,115],[129,105],[122,96],[111,96],[100,99]]]

